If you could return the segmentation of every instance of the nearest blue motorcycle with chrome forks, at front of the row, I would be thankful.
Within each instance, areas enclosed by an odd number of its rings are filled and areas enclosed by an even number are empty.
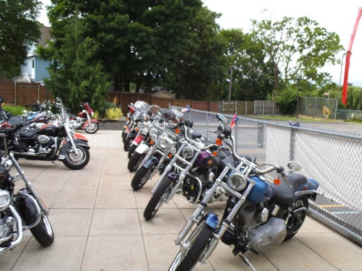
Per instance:
[[[228,137],[235,143],[231,134]],[[294,161],[288,163],[289,170],[276,166],[261,170],[261,165],[237,156],[235,144],[233,154],[242,163],[236,168],[228,163],[198,204],[175,239],[181,249],[169,270],[192,270],[198,261],[205,263],[220,240],[233,247],[233,254],[241,254],[246,265],[255,270],[245,253],[250,250],[259,254],[259,249],[290,240],[306,218],[308,199],[315,201],[317,194],[323,195],[317,191],[317,181],[301,174],[286,174],[301,170],[301,165]],[[269,172],[278,175],[272,180]],[[217,190],[227,197],[220,221],[215,213],[203,213]],[[197,227],[182,243],[195,223]]]

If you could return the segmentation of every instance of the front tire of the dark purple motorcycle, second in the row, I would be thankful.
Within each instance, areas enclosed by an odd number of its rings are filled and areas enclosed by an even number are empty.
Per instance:
[[[150,220],[155,216],[159,208],[161,208],[162,204],[164,204],[165,199],[168,197],[168,194],[171,192],[173,187],[173,179],[170,177],[166,177],[164,181],[159,185],[155,194],[152,195],[150,202],[148,202],[145,207],[145,211],[143,212],[143,217],[145,220]]]

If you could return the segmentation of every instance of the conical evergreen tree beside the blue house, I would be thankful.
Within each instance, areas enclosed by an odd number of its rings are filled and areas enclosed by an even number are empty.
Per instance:
[[[75,14],[77,13],[76,11]],[[86,28],[77,15],[64,28],[67,33],[64,38],[60,38],[63,43],[61,48],[55,49],[54,42],[49,44],[47,57],[53,63],[48,68],[50,77],[45,85],[52,90],[54,98],[61,97],[74,110],[85,101],[93,108],[100,108],[110,83],[102,72],[100,61],[92,63],[98,44],[93,39],[84,37]],[[45,48],[40,47],[40,55],[42,51]],[[49,52],[54,54],[51,56]]]

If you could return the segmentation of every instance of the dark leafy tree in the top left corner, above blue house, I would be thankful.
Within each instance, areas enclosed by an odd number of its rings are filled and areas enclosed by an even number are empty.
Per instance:
[[[20,65],[40,38],[38,0],[0,1],[0,79],[20,74]]]

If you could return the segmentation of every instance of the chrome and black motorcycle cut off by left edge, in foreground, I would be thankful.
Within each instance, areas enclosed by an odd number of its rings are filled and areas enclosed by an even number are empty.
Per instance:
[[[0,140],[6,133],[0,133]],[[2,156],[0,154],[0,156]],[[15,167],[17,174],[11,176]],[[15,181],[23,179],[25,188],[14,193]],[[20,243],[24,231],[30,230],[34,238],[44,247],[54,242],[54,232],[48,220],[49,211],[42,199],[26,179],[13,154],[1,157],[0,162],[0,256],[13,250]]]

